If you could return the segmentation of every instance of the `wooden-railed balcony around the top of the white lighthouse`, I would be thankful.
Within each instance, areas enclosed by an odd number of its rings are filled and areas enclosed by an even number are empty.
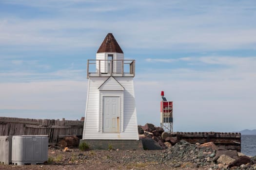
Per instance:
[[[134,77],[135,60],[88,60],[89,77]]]

